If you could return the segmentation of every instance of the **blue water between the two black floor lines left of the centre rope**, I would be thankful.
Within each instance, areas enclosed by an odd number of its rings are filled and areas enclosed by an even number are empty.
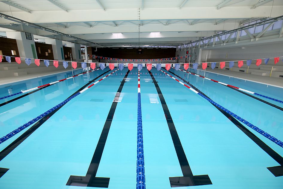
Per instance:
[[[10,169],[0,179],[0,185],[5,188],[73,188],[66,186],[69,176],[86,174],[115,97],[114,91],[123,77],[120,73],[107,77],[42,124],[0,162],[0,167]],[[133,156],[136,161],[135,154]]]

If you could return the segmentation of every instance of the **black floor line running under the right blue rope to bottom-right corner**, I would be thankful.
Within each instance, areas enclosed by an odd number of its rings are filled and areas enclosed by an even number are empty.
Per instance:
[[[202,91],[200,91],[198,88],[196,88],[194,85],[187,82],[182,77],[176,75],[175,73],[169,71],[176,77],[180,78],[183,82],[187,83],[191,88],[196,90],[197,92],[201,93],[202,95],[206,96]],[[206,96],[208,97],[208,96]],[[209,98],[209,97],[208,97]],[[212,103],[211,103],[212,104]],[[267,169],[274,175],[274,176],[283,176],[283,158],[280,156],[277,152],[275,152],[272,148],[270,148],[266,143],[264,143],[262,140],[260,140],[255,134],[253,134],[251,131],[249,131],[244,125],[242,125],[237,119],[235,119],[233,116],[231,116],[229,113],[225,112],[224,110],[221,110],[216,105],[212,104],[217,110],[219,110],[224,116],[226,116],[234,125],[236,125],[241,131],[244,132],[253,142],[255,142],[264,152],[266,152],[268,155],[270,155],[271,158],[273,158],[277,163],[280,164],[280,166],[275,167],[267,167]]]

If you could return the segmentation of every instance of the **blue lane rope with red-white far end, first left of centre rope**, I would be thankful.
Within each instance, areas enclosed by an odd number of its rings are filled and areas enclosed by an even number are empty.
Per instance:
[[[77,95],[80,95],[81,93],[85,92],[86,90],[88,90],[89,88],[91,88],[93,85],[96,85],[97,83],[99,83],[100,81],[102,81],[103,79],[105,79],[106,77],[112,75],[113,73],[115,73],[116,71],[118,71],[119,69],[109,73],[108,75],[104,76],[103,78],[99,79],[98,81],[94,82],[93,84],[89,85],[88,87],[84,88],[83,90],[79,91],[78,93],[76,93],[75,95],[71,96],[70,98],[67,98],[65,101],[61,102],[60,104],[57,104],[56,106],[54,106],[53,108],[47,110],[45,113],[41,114],[40,116],[37,116],[36,118],[32,119],[31,121],[25,123],[24,125],[22,125],[21,127],[15,129],[14,131],[10,132],[9,134],[5,135],[4,137],[0,138],[0,144],[3,143],[4,141],[8,140],[9,138],[15,136],[17,133],[19,133],[20,131],[24,130],[25,128],[29,127],[30,125],[34,124],[35,122],[37,122],[39,119],[43,118],[44,116],[48,115],[49,113],[53,112],[54,110],[56,110],[57,108],[61,107],[62,105],[66,104],[67,102],[69,102],[71,99],[75,98]],[[73,76],[72,76],[73,77]]]

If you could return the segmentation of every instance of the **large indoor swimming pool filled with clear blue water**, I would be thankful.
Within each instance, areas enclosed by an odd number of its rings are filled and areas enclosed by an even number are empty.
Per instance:
[[[126,68],[1,143],[1,188],[136,188],[138,70]],[[283,140],[282,110],[201,77],[161,70]],[[23,98],[1,100],[1,137],[111,72],[107,67]],[[2,85],[0,96],[69,76],[65,72]],[[205,76],[282,100],[282,88],[209,72]],[[156,68],[141,70],[140,88],[147,189],[282,188],[282,147]]]

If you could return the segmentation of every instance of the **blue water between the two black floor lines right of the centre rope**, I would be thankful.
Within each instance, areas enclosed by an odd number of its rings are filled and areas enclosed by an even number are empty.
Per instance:
[[[168,105],[192,172],[194,175],[208,174],[212,181],[212,185],[204,185],[202,188],[282,186],[283,178],[275,177],[266,168],[279,164],[228,118],[199,95],[160,74],[162,72],[153,69],[152,73],[157,74],[154,76]],[[146,151],[147,146],[144,144],[144,152]],[[147,161],[150,157],[146,153],[145,155],[148,187],[150,168],[147,167]],[[166,166],[164,169],[166,170]],[[182,173],[173,176],[182,176]]]

